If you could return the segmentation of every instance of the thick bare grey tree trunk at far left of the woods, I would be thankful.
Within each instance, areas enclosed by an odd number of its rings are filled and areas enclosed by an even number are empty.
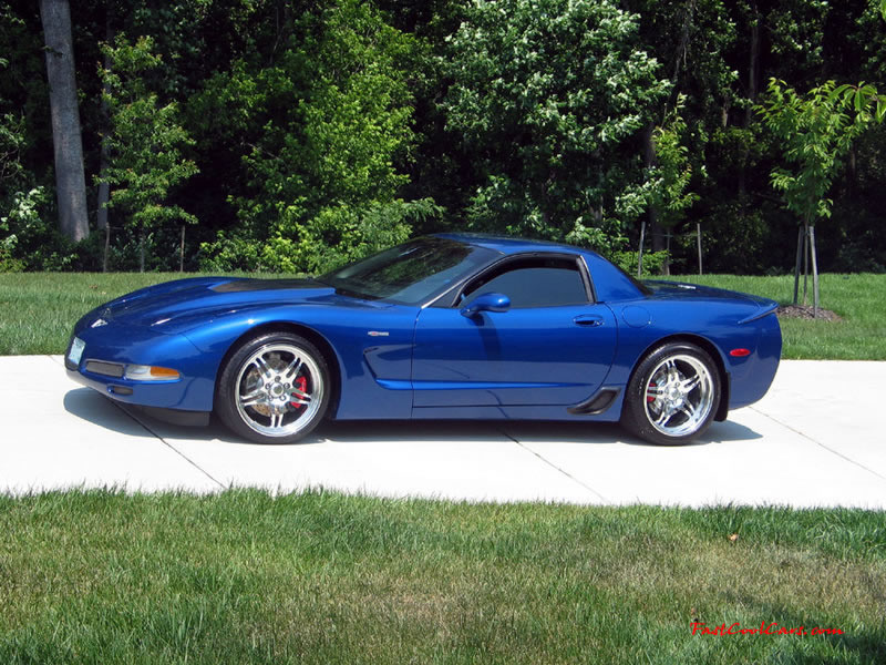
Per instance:
[[[59,227],[65,236],[79,242],[89,235],[90,225],[68,0],[40,0],[40,17],[47,44]]]

